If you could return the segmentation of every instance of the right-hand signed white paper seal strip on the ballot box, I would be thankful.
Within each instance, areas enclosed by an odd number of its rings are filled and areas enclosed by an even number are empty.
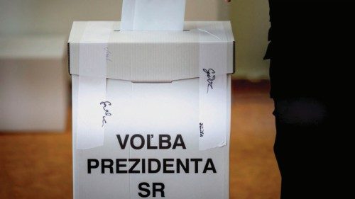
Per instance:
[[[222,27],[197,27],[200,38],[199,149],[226,145],[226,35]],[[211,42],[211,37],[215,42]],[[209,41],[206,41],[209,38]]]

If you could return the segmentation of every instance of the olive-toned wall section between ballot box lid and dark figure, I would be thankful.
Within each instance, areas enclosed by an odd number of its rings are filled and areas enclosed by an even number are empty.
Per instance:
[[[268,0],[231,0],[231,22],[236,38],[236,74],[239,79],[268,79]]]

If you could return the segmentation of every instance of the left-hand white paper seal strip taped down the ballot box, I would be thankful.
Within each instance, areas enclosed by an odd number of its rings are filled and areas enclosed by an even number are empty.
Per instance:
[[[88,22],[80,41],[77,149],[92,149],[104,144],[100,103],[106,100],[107,42],[113,25],[113,22]]]

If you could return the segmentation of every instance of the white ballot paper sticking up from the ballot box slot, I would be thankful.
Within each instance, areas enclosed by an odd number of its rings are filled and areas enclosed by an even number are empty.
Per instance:
[[[121,30],[182,30],[186,0],[124,0]]]

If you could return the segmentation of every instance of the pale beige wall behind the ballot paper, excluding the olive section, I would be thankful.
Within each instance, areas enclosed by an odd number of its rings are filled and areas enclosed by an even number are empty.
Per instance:
[[[0,0],[0,34],[62,33],[72,21],[119,21],[122,0]],[[227,20],[222,0],[187,0],[187,21]]]

